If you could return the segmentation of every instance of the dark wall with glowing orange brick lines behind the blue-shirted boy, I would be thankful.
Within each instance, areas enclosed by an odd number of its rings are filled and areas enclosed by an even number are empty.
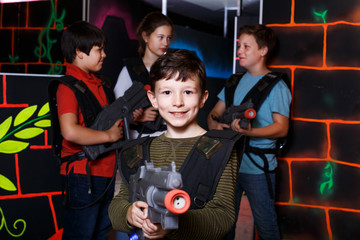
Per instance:
[[[264,1],[264,24],[279,38],[271,67],[289,73],[293,94],[276,200],[282,239],[360,235],[359,7],[355,0]]]

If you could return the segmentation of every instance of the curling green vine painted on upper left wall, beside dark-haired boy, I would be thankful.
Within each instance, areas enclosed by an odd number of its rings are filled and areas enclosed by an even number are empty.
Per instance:
[[[51,17],[49,19],[47,26],[39,34],[38,43],[41,47],[36,47],[34,53],[37,57],[46,58],[50,62],[51,67],[48,71],[48,74],[60,74],[62,71],[62,63],[60,61],[57,61],[53,65],[53,60],[51,57],[52,46],[54,43],[57,42],[57,40],[51,39],[50,28],[55,23],[56,31],[60,32],[64,29],[65,10],[62,11],[60,17],[57,17],[54,0],[51,0],[50,3],[51,3]],[[43,40],[45,41],[45,43],[43,42]]]

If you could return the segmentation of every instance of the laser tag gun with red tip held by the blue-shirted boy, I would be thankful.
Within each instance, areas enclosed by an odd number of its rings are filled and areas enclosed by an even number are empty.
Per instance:
[[[256,117],[256,111],[254,109],[254,104],[252,103],[251,99],[249,99],[249,101],[241,105],[238,106],[231,105],[225,110],[224,114],[219,118],[213,115],[211,115],[211,117],[215,121],[226,123],[229,125],[234,119],[240,119],[239,122],[240,127],[242,129],[248,129],[250,120]]]

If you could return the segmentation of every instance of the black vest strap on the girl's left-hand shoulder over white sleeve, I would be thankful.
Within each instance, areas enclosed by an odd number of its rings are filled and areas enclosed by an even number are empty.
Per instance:
[[[124,63],[132,81],[150,84],[149,72],[140,58],[127,58]]]

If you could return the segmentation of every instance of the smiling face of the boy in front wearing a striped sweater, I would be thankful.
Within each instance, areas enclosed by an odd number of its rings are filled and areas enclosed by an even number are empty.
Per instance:
[[[155,91],[148,92],[152,105],[164,118],[168,132],[181,133],[182,137],[196,136],[199,125],[196,121],[199,109],[205,104],[208,91],[201,92],[199,79],[186,81],[161,79],[155,83]]]

